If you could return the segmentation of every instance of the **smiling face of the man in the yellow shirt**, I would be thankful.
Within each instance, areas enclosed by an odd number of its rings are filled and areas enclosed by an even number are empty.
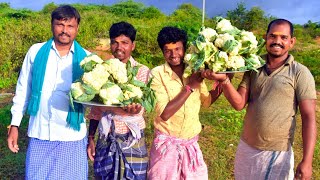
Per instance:
[[[181,41],[165,44],[163,47],[163,56],[171,66],[178,66],[183,62],[184,48]]]

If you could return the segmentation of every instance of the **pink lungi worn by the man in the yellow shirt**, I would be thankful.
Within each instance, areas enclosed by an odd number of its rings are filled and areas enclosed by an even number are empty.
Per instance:
[[[159,131],[150,151],[148,179],[208,179],[208,169],[198,144],[199,136],[178,139]]]

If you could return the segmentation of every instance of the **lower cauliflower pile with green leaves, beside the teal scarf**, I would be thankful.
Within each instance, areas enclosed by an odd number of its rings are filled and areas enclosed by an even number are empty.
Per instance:
[[[155,106],[155,94],[148,84],[136,80],[139,66],[122,63],[113,58],[103,61],[96,54],[80,62],[84,70],[80,79],[71,84],[70,100],[95,101],[105,105],[140,103],[150,112]]]

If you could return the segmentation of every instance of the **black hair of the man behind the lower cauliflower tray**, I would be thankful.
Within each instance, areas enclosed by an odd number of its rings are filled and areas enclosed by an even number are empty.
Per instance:
[[[132,26],[132,24],[121,21],[112,24],[109,30],[109,37],[110,39],[114,39],[118,36],[125,35],[133,42],[134,40],[136,40],[136,33],[137,30]]]

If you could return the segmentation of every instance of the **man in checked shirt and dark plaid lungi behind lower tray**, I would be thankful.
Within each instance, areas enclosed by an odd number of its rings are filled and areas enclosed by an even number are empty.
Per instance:
[[[135,61],[135,28],[127,22],[115,23],[109,30],[112,54],[123,63],[140,66],[137,80],[147,83],[149,68]],[[94,173],[98,179],[146,179],[148,152],[144,138],[144,108],[130,104],[123,108],[92,108],[88,135],[88,156],[94,160]],[[99,127],[95,146],[94,137]]]

